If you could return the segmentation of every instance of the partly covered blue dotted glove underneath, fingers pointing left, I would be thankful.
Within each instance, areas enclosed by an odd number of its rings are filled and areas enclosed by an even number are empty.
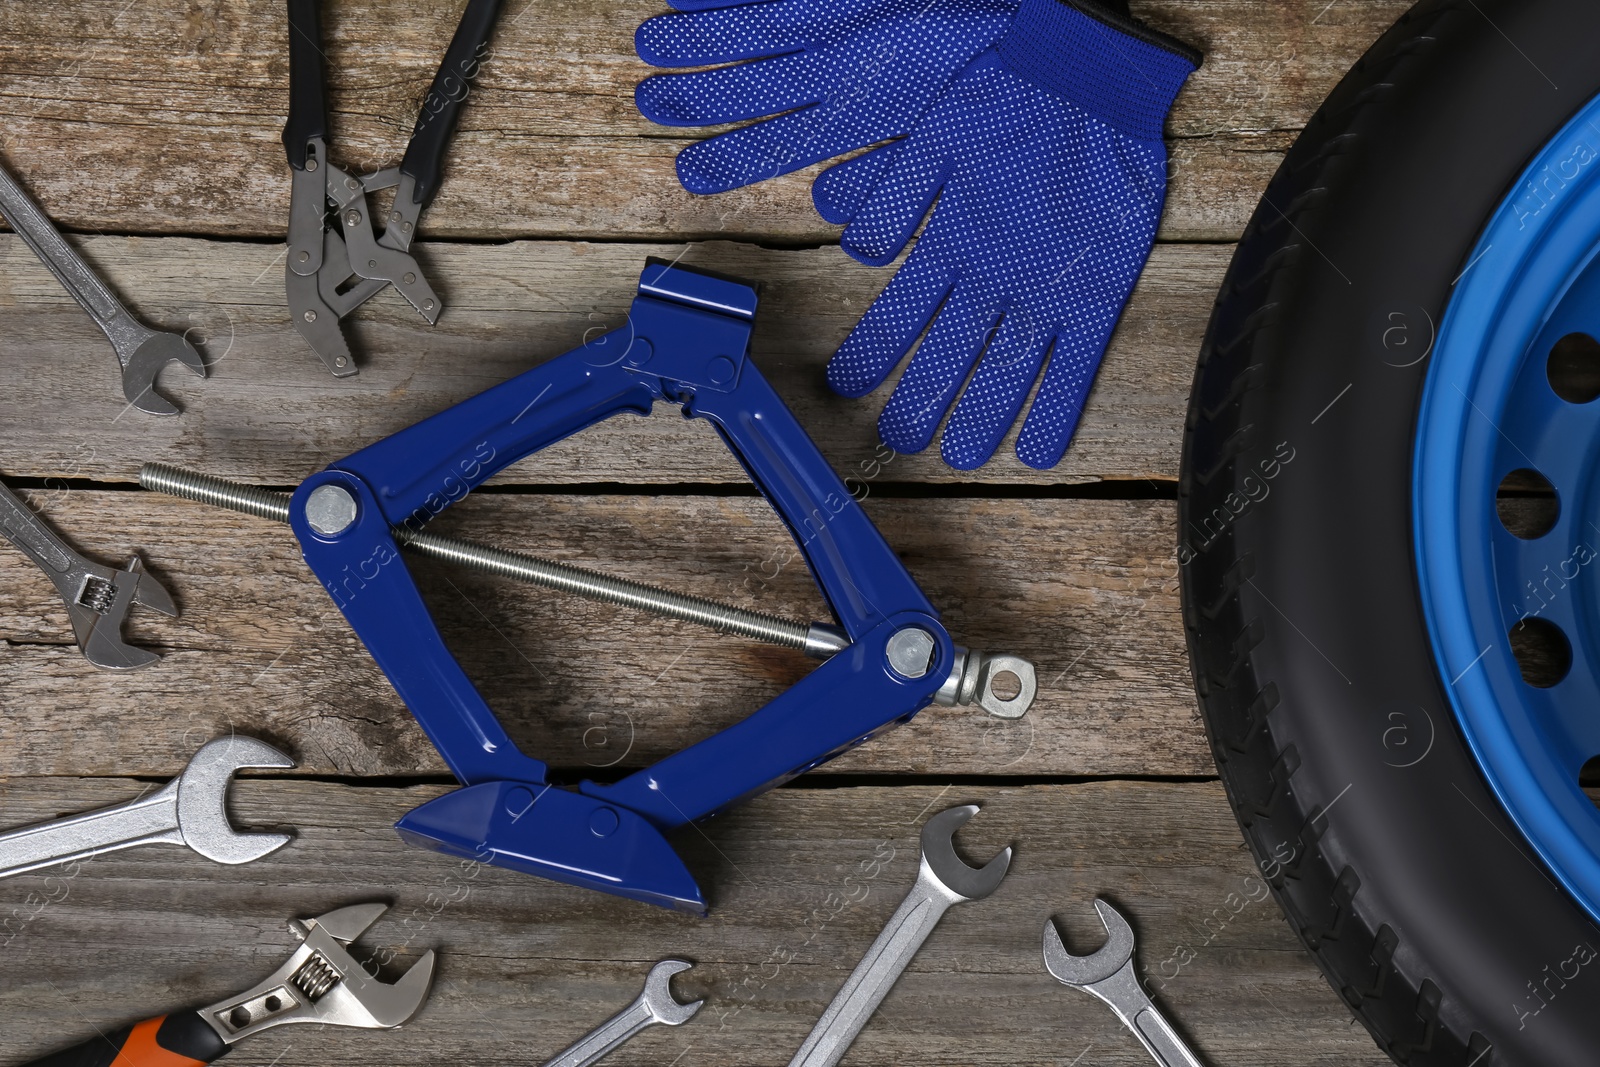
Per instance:
[[[672,0],[634,43],[659,74],[634,101],[664,126],[776,115],[678,154],[678,181],[725,192],[902,138],[973,56],[1005,32],[1016,0]],[[741,62],[754,59],[754,62]]]

